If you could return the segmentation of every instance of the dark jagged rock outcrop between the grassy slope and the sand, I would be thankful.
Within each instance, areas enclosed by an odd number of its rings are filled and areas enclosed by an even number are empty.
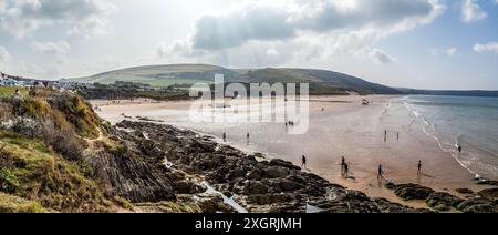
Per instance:
[[[249,212],[264,213],[303,213],[309,206],[330,213],[427,212],[349,191],[301,172],[290,162],[260,162],[209,137],[169,125],[124,121],[111,134],[127,150],[94,160],[94,164],[111,166],[103,167],[103,174],[116,194],[132,201],[188,201],[209,213],[234,212],[235,206],[227,206],[227,200]],[[218,193],[204,192],[203,181]]]

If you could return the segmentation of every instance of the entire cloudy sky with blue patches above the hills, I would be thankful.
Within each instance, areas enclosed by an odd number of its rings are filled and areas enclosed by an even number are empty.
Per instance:
[[[0,0],[0,71],[311,68],[391,86],[498,90],[498,0]]]

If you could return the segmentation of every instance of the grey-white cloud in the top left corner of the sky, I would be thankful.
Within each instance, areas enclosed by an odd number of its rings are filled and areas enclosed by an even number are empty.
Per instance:
[[[0,29],[17,37],[54,24],[73,33],[100,32],[108,30],[106,17],[115,8],[101,0],[2,0]]]

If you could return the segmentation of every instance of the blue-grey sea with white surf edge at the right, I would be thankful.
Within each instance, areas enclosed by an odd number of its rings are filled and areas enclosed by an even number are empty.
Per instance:
[[[397,101],[464,168],[476,177],[498,177],[498,98],[411,95]]]

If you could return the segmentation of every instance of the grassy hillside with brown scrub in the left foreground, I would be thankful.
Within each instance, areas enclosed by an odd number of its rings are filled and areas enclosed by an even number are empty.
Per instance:
[[[101,125],[70,93],[0,98],[0,212],[112,211],[113,198],[77,157]]]

